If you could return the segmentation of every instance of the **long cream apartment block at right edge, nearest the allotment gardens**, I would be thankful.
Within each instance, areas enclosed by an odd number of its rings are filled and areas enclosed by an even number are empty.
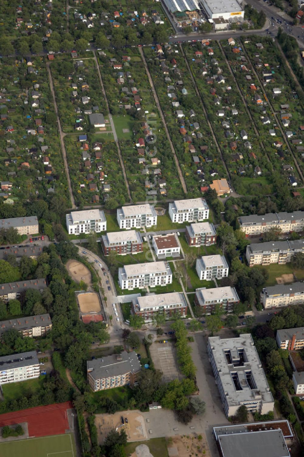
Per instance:
[[[304,211],[293,213],[267,213],[264,215],[252,214],[238,218],[240,230],[247,236],[260,235],[272,228],[277,228],[282,233],[303,232]]]

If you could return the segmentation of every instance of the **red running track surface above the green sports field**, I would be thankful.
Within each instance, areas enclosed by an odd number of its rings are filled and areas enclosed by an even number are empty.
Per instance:
[[[0,427],[27,422],[29,436],[62,435],[69,429],[65,412],[70,408],[73,405],[65,402],[0,414]]]

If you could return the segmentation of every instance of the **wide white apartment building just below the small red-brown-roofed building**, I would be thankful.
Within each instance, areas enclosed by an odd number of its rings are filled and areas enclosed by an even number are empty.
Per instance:
[[[125,265],[118,268],[118,282],[121,289],[166,286],[172,282],[172,271],[168,262],[147,262]]]

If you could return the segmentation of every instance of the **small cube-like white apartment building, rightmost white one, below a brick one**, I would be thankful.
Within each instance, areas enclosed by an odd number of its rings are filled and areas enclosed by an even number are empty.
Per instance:
[[[224,255],[203,255],[196,260],[196,271],[200,280],[211,281],[228,276],[228,263]]]

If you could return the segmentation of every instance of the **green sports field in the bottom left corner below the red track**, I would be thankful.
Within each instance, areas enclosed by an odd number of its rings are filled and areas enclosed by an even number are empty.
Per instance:
[[[1,457],[76,457],[71,434],[0,443]]]

